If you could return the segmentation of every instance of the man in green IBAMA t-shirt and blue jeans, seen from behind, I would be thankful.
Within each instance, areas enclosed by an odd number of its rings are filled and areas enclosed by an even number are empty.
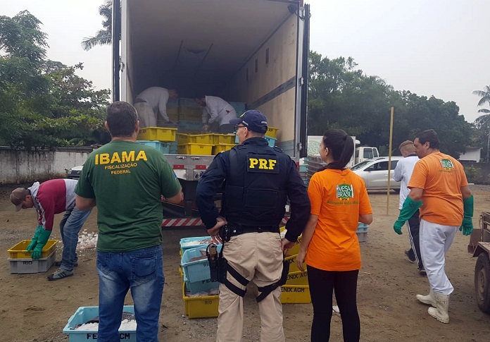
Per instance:
[[[156,342],[165,281],[161,195],[180,203],[182,190],[163,154],[136,142],[139,122],[133,106],[108,106],[106,128],[111,142],[89,155],[75,189],[77,207],[97,206],[97,341],[120,340],[122,309],[131,289],[136,340]]]

